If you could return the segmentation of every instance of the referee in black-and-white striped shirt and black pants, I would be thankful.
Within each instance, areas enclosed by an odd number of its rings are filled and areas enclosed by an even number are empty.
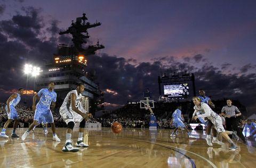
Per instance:
[[[236,106],[232,105],[231,99],[227,99],[227,105],[222,107],[221,114],[226,117],[226,129],[228,131],[236,131],[237,136],[245,142],[244,135],[238,128],[237,117],[241,115],[241,112]]]

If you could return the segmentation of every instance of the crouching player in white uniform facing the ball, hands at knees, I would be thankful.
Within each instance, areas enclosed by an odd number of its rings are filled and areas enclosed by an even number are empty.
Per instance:
[[[74,148],[71,144],[71,135],[76,122],[79,123],[79,133],[76,142],[77,147],[88,147],[83,142],[83,133],[85,121],[89,120],[92,114],[87,113],[82,107],[82,93],[84,92],[83,83],[78,83],[76,90],[71,90],[64,99],[60,107],[60,115],[67,123],[66,143],[62,148],[63,152],[78,152],[78,148]]]

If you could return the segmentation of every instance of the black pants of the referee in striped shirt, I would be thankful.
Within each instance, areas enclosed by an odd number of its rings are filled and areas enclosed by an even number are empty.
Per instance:
[[[236,117],[226,117],[226,130],[236,131],[237,136],[241,138],[243,141],[245,141],[242,130],[238,128],[238,120]],[[229,135],[229,137],[232,138],[231,135]]]

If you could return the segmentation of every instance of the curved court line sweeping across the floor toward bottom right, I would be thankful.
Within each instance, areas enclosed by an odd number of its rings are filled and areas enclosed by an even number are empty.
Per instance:
[[[102,136],[103,137],[103,136]],[[108,136],[104,136],[104,137],[108,137]],[[111,138],[111,137],[108,137],[108,138]],[[150,144],[155,144],[155,145],[159,145],[159,146],[167,146],[167,147],[171,147],[171,148],[176,148],[176,149],[180,149],[180,150],[183,150],[185,152],[188,152],[188,153],[191,153],[191,154],[194,154],[198,157],[201,157],[202,159],[204,159],[206,162],[208,162],[212,167],[214,168],[218,168],[214,163],[212,163],[211,161],[209,161],[209,159],[201,156],[201,155],[198,155],[194,152],[190,152],[189,150],[186,150],[186,149],[182,149],[182,148],[178,148],[178,147],[175,147],[175,146],[171,146],[171,145],[165,145],[165,144],[160,144],[158,142],[151,142],[151,141],[147,141],[147,140],[140,140],[140,139],[130,139],[130,138],[122,138],[122,137],[116,137],[116,138],[119,138],[119,139],[127,139],[127,140],[134,140],[134,141],[142,141],[142,142],[147,142],[147,143],[150,143]],[[176,151],[176,150],[175,150]],[[184,154],[183,154],[184,155]],[[184,155],[186,156],[186,155]],[[193,166],[193,165],[192,165]]]

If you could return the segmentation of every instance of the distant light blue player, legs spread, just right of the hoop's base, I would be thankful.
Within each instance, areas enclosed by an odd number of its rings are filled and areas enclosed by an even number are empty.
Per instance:
[[[175,129],[171,133],[171,137],[175,137],[177,135],[176,131],[178,131],[179,128],[183,128],[187,131],[189,138],[195,138],[194,136],[191,135],[191,133],[188,131],[185,124],[183,123],[184,119],[182,119],[181,117],[180,110],[181,110],[181,106],[178,106],[177,109],[172,114],[172,121]],[[176,135],[174,135],[174,132],[176,133]]]

